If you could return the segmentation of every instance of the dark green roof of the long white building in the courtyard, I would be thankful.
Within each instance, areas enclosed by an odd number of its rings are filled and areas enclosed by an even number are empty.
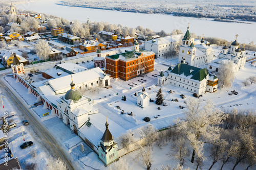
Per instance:
[[[190,72],[190,70],[191,70],[191,72]],[[174,67],[174,69],[170,72],[173,72],[174,74],[177,74],[177,75],[184,74],[184,76],[192,76],[190,79],[198,80],[200,82],[203,79],[205,79],[205,77],[209,74],[209,72],[207,71],[206,68],[201,69],[198,67],[181,64],[181,63],[176,65],[176,67]],[[211,75],[209,75],[209,76],[211,76]],[[216,79],[216,77],[214,79]]]

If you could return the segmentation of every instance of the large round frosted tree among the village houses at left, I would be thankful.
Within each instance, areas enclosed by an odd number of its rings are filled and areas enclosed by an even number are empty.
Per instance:
[[[46,40],[38,40],[34,47],[40,60],[48,60],[51,48]]]

